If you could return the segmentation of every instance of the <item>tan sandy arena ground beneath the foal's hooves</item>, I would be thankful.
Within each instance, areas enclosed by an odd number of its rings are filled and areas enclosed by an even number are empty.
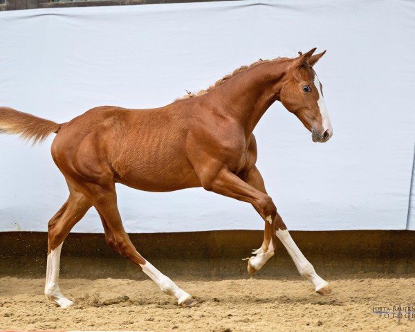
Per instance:
[[[198,306],[177,306],[150,280],[62,279],[75,306],[61,309],[42,295],[43,278],[1,277],[0,329],[415,331],[415,317],[399,323],[372,314],[374,306],[414,305],[414,275],[334,278],[335,293],[326,297],[299,278],[175,281]]]

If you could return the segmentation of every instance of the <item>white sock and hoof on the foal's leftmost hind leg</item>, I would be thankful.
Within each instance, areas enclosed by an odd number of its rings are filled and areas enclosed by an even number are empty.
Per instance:
[[[59,289],[59,264],[63,242],[48,254],[46,265],[45,295],[61,308],[72,306],[73,302],[62,295]]]

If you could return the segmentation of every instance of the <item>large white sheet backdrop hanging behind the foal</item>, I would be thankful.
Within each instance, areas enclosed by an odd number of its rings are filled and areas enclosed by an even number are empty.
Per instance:
[[[20,10],[0,12],[0,31],[0,105],[57,122],[104,104],[159,107],[259,57],[327,49],[315,69],[334,136],[313,143],[274,104],[255,129],[268,192],[291,230],[409,225],[414,1]],[[66,200],[52,140],[30,147],[0,136],[0,231],[45,231]],[[263,228],[250,205],[202,189],[155,194],[119,186],[118,196],[128,232]],[[75,231],[102,232],[95,210]]]

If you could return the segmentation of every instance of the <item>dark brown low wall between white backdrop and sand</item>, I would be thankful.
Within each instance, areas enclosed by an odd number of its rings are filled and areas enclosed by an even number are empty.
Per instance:
[[[304,255],[324,276],[388,277],[415,273],[415,232],[291,232]],[[261,246],[263,232],[226,230],[131,234],[146,259],[174,277],[245,278],[246,261]],[[0,277],[44,277],[47,235],[0,232]],[[104,234],[70,234],[62,249],[61,275],[66,278],[144,278],[137,267],[113,252]],[[276,255],[261,277],[299,277],[291,257],[277,242]],[[258,275],[257,275],[258,277]]]

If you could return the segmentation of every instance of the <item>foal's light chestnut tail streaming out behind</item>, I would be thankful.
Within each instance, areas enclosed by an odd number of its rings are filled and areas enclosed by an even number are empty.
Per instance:
[[[38,118],[28,113],[10,109],[10,107],[0,107],[0,133],[20,135],[24,140],[42,142],[50,135],[57,133],[60,124],[56,122]]]

